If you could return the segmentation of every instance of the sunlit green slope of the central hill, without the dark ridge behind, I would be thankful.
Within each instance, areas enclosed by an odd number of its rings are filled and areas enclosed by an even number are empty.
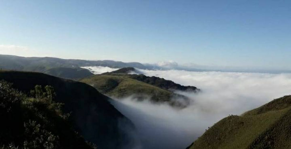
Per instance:
[[[162,88],[131,79],[126,75],[94,75],[81,80],[95,87],[100,92],[111,97],[128,97],[137,95],[139,99],[151,97],[154,102],[169,102],[171,105],[181,106],[180,103],[171,100],[179,95]],[[181,98],[184,98],[180,96]],[[186,99],[185,99],[186,100]]]

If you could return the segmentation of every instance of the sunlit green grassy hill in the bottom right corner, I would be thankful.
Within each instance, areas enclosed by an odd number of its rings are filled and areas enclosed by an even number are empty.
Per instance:
[[[290,149],[291,96],[244,113],[228,116],[210,127],[189,149]]]

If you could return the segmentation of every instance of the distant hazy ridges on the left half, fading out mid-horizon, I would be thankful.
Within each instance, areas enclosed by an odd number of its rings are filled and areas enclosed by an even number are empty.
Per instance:
[[[78,80],[93,75],[89,70],[80,68],[81,66],[107,66],[111,68],[135,67],[146,69],[143,64],[137,62],[124,63],[121,61],[109,60],[87,61],[79,59],[59,59],[54,57],[19,57],[0,54],[0,69],[43,72],[66,79]],[[58,71],[62,72],[59,73]],[[70,74],[68,75],[67,73]]]

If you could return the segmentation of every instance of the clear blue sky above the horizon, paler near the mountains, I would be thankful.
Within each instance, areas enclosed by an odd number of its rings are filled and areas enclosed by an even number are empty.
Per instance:
[[[291,1],[1,0],[0,52],[15,51],[291,70]]]

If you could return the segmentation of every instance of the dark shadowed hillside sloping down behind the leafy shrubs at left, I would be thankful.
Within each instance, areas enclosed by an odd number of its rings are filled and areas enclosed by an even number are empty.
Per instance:
[[[85,83],[37,72],[3,70],[2,79],[24,93],[36,85],[52,86],[56,92],[54,102],[64,103],[62,110],[70,113],[74,129],[101,149],[122,148],[136,139],[128,133],[134,131],[131,121],[109,103],[108,97]]]

